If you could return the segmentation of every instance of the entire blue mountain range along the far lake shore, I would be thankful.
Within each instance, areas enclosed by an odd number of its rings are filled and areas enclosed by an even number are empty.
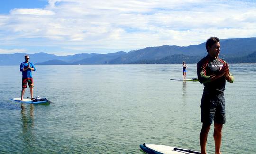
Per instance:
[[[256,63],[256,37],[220,40],[220,57],[228,63]],[[205,42],[199,45],[163,45],[146,47],[130,52],[97,54],[82,53],[68,56],[36,53],[28,54],[35,65],[85,65],[85,64],[168,64],[197,63],[207,54]],[[19,65],[26,53],[0,54],[0,65]]]

